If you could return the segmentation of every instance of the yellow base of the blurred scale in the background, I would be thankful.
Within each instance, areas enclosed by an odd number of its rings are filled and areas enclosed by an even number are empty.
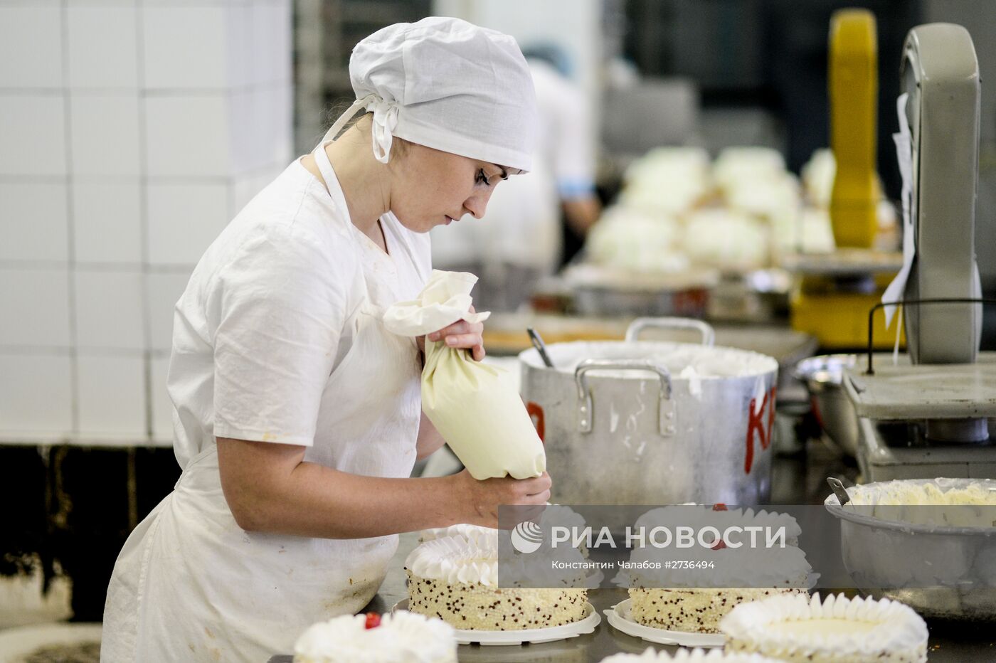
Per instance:
[[[828,350],[856,349],[868,346],[869,311],[881,302],[891,274],[875,279],[875,290],[869,294],[842,293],[834,289],[830,280],[807,277],[792,294],[792,329],[811,333],[820,339],[820,346]],[[895,344],[895,326],[898,316],[892,318],[892,327],[885,329],[885,315],[881,310],[874,314],[874,347],[891,349]],[[906,337],[899,330],[899,346],[905,347]]]

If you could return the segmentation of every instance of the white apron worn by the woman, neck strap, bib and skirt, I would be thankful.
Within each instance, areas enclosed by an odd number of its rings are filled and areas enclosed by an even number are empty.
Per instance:
[[[339,221],[352,227],[324,144],[315,155]],[[407,477],[415,460],[417,347],[381,322],[385,306],[396,301],[392,261],[419,262],[405,255],[412,245],[396,223],[384,223],[390,257],[353,227],[359,250],[369,252],[368,299],[347,323],[353,345],[322,395],[318,431],[335,427],[335,435],[316,434],[305,454],[306,461],[354,474]],[[124,545],[108,588],[101,659],[262,662],[290,652],[310,624],[363,608],[396,548],[396,536],[323,540],[244,532],[222,495],[212,438]]]

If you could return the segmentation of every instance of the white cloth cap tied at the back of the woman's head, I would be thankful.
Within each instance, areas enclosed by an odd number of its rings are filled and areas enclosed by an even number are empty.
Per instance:
[[[373,155],[393,136],[511,168],[532,167],[538,125],[529,66],[515,40],[454,18],[396,23],[353,49],[357,101],[326,133],[373,111]]]

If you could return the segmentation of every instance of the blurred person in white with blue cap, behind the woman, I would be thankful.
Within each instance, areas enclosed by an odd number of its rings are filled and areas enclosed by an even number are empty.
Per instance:
[[[515,311],[526,303],[537,280],[581,248],[602,212],[592,112],[571,81],[569,59],[554,46],[524,54],[540,111],[529,177],[496,190],[483,219],[432,233],[433,265],[480,276],[474,300],[490,311]]]

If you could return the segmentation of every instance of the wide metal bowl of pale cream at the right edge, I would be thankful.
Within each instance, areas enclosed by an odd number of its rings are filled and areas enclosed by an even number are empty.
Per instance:
[[[991,479],[906,479],[865,484],[849,493],[897,483],[933,484],[942,491],[981,484],[996,491]],[[864,593],[901,601],[929,617],[996,619],[996,527],[883,520],[871,516],[871,507],[841,507],[836,495],[824,505],[841,521],[844,565]]]

